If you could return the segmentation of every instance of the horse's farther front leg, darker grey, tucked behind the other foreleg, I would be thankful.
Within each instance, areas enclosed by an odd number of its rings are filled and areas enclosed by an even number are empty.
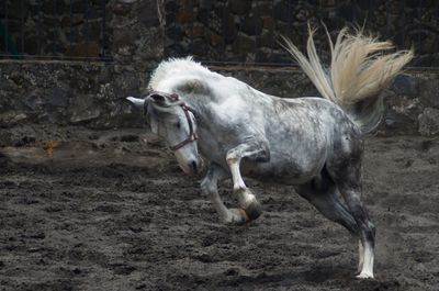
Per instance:
[[[201,182],[201,191],[207,195],[214,204],[219,220],[227,224],[245,224],[248,221],[244,210],[227,209],[218,194],[218,181],[229,177],[229,174],[216,164],[211,164],[207,174]]]

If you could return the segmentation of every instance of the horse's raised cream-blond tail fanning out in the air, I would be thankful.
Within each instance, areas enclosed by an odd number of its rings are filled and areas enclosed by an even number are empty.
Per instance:
[[[391,42],[379,42],[376,37],[364,35],[361,30],[352,35],[347,27],[340,31],[334,44],[326,30],[331,61],[329,70],[325,70],[314,45],[314,32],[308,26],[308,57],[282,36],[286,51],[324,98],[341,107],[363,133],[372,132],[384,115],[381,92],[410,61],[413,49],[382,54],[394,47]]]

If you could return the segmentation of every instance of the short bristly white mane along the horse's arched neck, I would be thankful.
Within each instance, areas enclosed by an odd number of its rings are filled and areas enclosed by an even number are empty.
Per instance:
[[[188,78],[204,79],[206,76],[217,76],[217,74],[194,61],[192,57],[170,58],[161,61],[153,71],[148,89],[157,90],[161,81],[169,78],[182,78],[184,76],[188,76]]]

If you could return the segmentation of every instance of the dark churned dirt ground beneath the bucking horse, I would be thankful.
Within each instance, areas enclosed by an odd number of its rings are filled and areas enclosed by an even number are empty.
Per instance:
[[[142,130],[16,126],[0,144],[1,291],[439,290],[437,138],[367,139],[374,280],[353,278],[357,242],[291,187],[247,180],[262,216],[218,223],[201,177]]]

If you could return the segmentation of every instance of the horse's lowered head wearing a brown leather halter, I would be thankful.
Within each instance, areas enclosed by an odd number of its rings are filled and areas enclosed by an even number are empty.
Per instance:
[[[185,174],[196,174],[202,168],[195,116],[177,94],[151,92],[145,99],[127,100],[144,111],[151,132],[166,141]]]

